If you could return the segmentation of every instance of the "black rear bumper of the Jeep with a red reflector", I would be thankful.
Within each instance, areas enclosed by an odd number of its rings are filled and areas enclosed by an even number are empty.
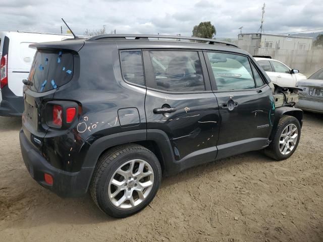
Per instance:
[[[23,130],[19,134],[20,147],[25,165],[38,184],[60,197],[82,197],[87,193],[93,168],[82,168],[78,172],[67,172],[51,166],[27,140]],[[44,173],[53,177],[53,185],[44,181]]]

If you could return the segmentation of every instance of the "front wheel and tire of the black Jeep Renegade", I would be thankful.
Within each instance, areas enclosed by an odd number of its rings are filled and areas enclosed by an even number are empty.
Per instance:
[[[297,130],[291,132],[291,137],[288,137],[288,133],[295,128]],[[277,128],[273,130],[273,132],[272,142],[264,149],[264,153],[275,160],[285,160],[289,158],[295,152],[301,137],[301,126],[298,119],[293,116],[283,115],[279,120]],[[285,134],[287,138],[283,137]],[[297,136],[295,136],[295,134]],[[293,141],[289,142],[290,140]],[[284,143],[282,144],[282,142]],[[287,146],[290,148],[288,149]],[[286,152],[284,152],[285,150]]]

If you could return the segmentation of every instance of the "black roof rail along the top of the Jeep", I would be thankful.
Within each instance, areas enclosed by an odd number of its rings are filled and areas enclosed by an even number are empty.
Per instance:
[[[105,38],[111,38],[111,39],[126,39],[126,38],[134,38],[135,40],[149,40],[149,38],[154,38],[154,39],[186,39],[186,40],[195,40],[195,41],[205,41],[206,44],[214,44],[214,43],[219,43],[219,44],[225,44],[225,45],[230,45],[239,48],[237,45],[226,42],[226,41],[219,41],[215,39],[205,39],[205,38],[196,38],[196,37],[185,37],[185,36],[173,36],[173,35],[147,35],[147,34],[102,34],[102,35],[97,35],[92,38],[89,38],[87,41],[93,41],[93,40],[98,40],[98,39],[105,39]]]

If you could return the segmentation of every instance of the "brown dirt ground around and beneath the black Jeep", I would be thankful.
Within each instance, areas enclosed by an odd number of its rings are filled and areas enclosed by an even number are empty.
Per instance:
[[[20,127],[0,117],[0,241],[323,241],[323,115],[305,113],[291,158],[249,152],[163,178],[151,206],[125,219],[40,187]]]

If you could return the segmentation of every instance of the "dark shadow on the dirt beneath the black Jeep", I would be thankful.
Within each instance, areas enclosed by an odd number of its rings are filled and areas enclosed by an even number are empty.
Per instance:
[[[228,172],[228,167],[240,165],[244,162],[267,163],[273,162],[273,160],[265,157],[260,152],[249,152],[242,155],[236,155],[190,168],[177,175],[163,177],[160,190],[168,190],[170,186],[188,183],[190,180],[201,177],[201,175],[207,175],[208,173],[216,174],[217,172],[224,172],[224,170],[225,172]],[[109,226],[110,223],[118,220],[101,212],[94,204],[89,194],[83,198],[63,199],[36,184],[26,170],[24,170],[21,175],[24,176],[26,179],[25,183],[27,183],[27,189],[23,192],[23,196],[19,194],[20,199],[23,201],[17,202],[17,199],[14,196],[11,196],[10,199],[14,203],[12,205],[13,208],[16,207],[16,210],[20,210],[19,212],[22,214],[23,227],[31,228],[49,222],[58,224],[91,224],[91,226],[101,226],[104,224],[104,226]],[[214,181],[218,181],[216,176],[214,176]],[[158,197],[155,199],[158,199]],[[26,206],[28,206],[28,210],[26,210]],[[146,207],[145,211],[124,218],[123,220],[125,220],[125,222],[134,222],[146,216],[145,214],[147,212],[155,213],[158,209],[156,211],[149,210],[151,210],[151,208]],[[37,223],[26,223],[24,221],[28,220],[28,217],[30,216],[32,216],[33,220],[37,221]],[[20,228],[21,223],[18,223],[16,220],[10,226]]]

